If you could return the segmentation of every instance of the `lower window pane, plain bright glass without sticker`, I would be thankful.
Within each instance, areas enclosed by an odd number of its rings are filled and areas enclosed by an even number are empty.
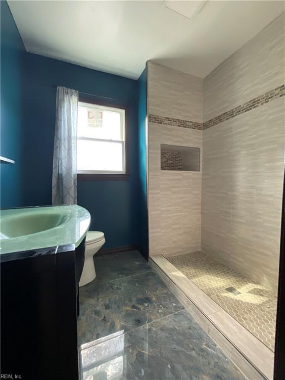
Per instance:
[[[77,140],[77,170],[124,171],[123,142]]]

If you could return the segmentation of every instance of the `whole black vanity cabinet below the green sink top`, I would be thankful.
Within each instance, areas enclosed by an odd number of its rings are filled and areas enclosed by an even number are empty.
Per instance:
[[[1,262],[1,375],[78,380],[76,263],[83,266],[84,245]]]

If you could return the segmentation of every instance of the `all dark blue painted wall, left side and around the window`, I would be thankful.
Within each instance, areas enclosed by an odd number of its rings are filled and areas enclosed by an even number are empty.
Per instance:
[[[1,207],[51,204],[53,86],[112,97],[118,99],[113,104],[129,107],[129,180],[78,182],[78,204],[90,211],[91,229],[105,233],[105,248],[142,246],[139,82],[25,52],[7,3],[1,1],[1,155],[16,160],[1,165]]]

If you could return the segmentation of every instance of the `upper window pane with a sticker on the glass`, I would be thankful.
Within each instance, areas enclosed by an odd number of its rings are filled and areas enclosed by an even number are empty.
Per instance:
[[[99,106],[78,107],[77,135],[104,140],[124,140],[124,110],[104,110]]]

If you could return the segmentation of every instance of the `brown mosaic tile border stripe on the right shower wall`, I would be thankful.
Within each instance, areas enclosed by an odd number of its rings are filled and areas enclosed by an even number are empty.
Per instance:
[[[251,109],[260,107],[263,104],[269,103],[270,101],[277,99],[285,95],[285,84],[276,87],[274,90],[270,90],[267,93],[254,97],[253,99],[238,105],[235,108],[230,109],[227,112],[222,113],[219,116],[216,116],[203,123],[203,130],[213,127],[214,125],[220,124],[223,121],[232,119],[235,116],[238,116],[242,113],[248,112]]]

